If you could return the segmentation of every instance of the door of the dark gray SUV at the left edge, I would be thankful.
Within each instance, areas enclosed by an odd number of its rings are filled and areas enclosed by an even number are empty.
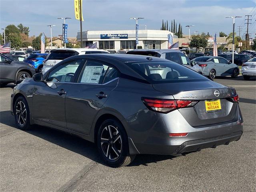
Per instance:
[[[14,82],[16,77],[16,66],[13,62],[6,62],[6,57],[0,55],[0,81]]]

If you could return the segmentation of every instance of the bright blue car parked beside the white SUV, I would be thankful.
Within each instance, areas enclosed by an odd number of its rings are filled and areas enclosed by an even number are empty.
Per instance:
[[[42,72],[43,68],[43,60],[46,59],[48,54],[46,53],[36,53],[36,54],[30,54],[26,59],[24,59],[24,62],[27,62],[29,64],[32,64],[37,73]]]

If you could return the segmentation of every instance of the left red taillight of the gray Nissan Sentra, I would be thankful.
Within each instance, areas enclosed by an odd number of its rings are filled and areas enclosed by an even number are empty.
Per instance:
[[[192,107],[197,101],[192,100],[174,100],[174,99],[157,99],[142,98],[144,104],[153,111],[168,113],[178,108]]]

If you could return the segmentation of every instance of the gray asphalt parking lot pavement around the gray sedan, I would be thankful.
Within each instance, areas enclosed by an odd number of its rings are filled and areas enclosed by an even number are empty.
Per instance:
[[[41,126],[18,130],[10,114],[14,85],[0,88],[0,191],[255,191],[256,80],[215,81],[240,96],[238,142],[180,157],[138,155],[122,168],[105,166],[94,144],[75,136]]]

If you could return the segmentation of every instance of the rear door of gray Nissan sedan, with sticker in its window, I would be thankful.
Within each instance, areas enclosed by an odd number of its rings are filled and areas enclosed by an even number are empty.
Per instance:
[[[110,64],[87,60],[78,82],[66,96],[67,128],[90,134],[94,118],[118,84],[118,71]]]

